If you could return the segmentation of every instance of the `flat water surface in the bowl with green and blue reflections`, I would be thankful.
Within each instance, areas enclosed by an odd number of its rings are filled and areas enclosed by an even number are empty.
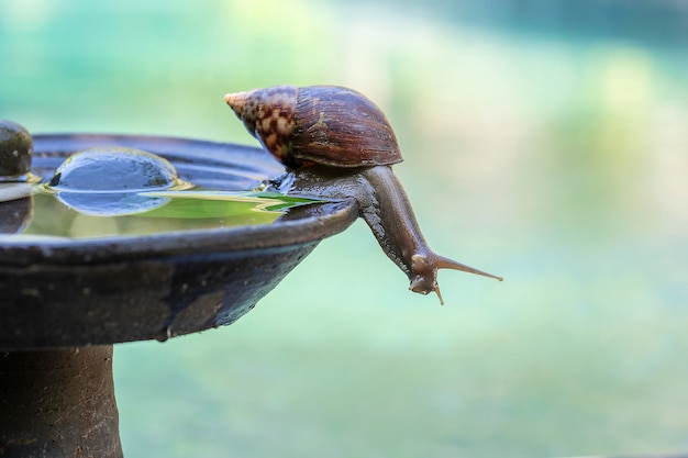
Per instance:
[[[0,202],[0,216],[7,216],[0,234],[80,238],[270,224],[290,208],[310,202],[202,189],[131,193],[122,201],[123,196],[116,193],[113,200],[109,194],[75,192],[65,202],[64,196],[38,191],[33,197]]]

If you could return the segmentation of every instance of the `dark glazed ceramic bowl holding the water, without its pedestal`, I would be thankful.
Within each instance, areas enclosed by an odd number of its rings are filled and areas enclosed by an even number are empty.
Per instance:
[[[111,135],[37,135],[32,171],[47,179],[69,154],[98,145],[158,154],[181,179],[219,190],[247,190],[282,171],[259,148]],[[231,324],[319,241],[356,217],[355,203],[344,201],[292,209],[262,226],[141,237],[2,236],[0,348],[165,339]]]

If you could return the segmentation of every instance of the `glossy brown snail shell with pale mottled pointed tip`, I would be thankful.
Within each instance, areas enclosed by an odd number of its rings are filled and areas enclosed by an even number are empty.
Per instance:
[[[382,111],[339,86],[275,86],[225,96],[244,125],[288,167],[373,167],[402,161]]]

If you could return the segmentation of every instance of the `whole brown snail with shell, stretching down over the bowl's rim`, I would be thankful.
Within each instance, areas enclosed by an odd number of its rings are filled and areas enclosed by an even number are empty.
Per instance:
[[[391,166],[401,153],[382,111],[362,93],[337,86],[275,86],[229,93],[225,102],[248,132],[287,167],[278,188],[329,199],[354,198],[386,255],[408,276],[409,289],[435,292],[439,269],[502,280],[435,254]]]

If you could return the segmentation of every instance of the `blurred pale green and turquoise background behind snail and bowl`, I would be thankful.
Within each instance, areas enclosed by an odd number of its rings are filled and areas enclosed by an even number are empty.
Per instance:
[[[688,450],[688,5],[0,0],[0,118],[256,144],[229,91],[375,100],[431,245],[362,222],[231,327],[119,345],[127,457]]]

